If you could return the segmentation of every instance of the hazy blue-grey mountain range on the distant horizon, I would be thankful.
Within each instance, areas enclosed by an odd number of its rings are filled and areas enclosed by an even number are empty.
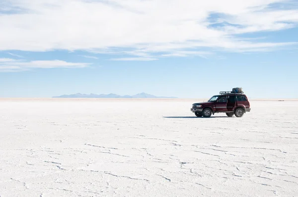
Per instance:
[[[120,96],[120,95],[116,95],[116,94],[108,94],[108,95],[104,95],[104,94],[101,94],[101,95],[95,95],[95,94],[89,94],[89,95],[86,95],[86,94],[80,94],[80,93],[76,93],[74,95],[61,95],[61,96],[55,96],[53,98],[104,98],[104,99],[121,99],[121,98],[126,98],[126,99],[129,99],[129,98],[133,98],[133,99],[176,99],[177,97],[157,97],[157,96],[154,96],[154,95],[149,95],[147,93],[140,93],[140,94],[137,94],[137,95],[133,95],[133,96],[130,96],[130,95],[125,95],[125,96]]]

